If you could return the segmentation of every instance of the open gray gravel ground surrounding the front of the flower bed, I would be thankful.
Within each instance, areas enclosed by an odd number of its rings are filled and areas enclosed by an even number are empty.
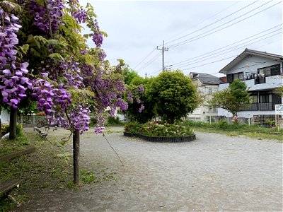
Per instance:
[[[62,134],[61,130],[50,134]],[[81,136],[81,167],[115,179],[42,189],[17,211],[282,211],[282,143],[196,132],[187,143]]]

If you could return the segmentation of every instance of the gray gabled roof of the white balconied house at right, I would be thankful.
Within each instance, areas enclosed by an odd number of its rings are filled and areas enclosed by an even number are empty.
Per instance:
[[[219,72],[220,73],[227,73],[229,69],[233,68],[238,62],[240,62],[242,59],[248,56],[248,54],[260,56],[260,57],[265,57],[268,59],[276,60],[276,61],[283,61],[283,56],[279,54],[271,54],[267,52],[260,52],[257,50],[252,50],[252,49],[245,49],[238,57],[233,59],[229,64],[227,64],[223,69],[221,69]]]

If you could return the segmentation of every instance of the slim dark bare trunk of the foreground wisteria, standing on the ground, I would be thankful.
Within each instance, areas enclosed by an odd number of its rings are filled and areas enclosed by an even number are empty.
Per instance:
[[[74,130],[73,134],[73,166],[74,166],[74,184],[79,184],[79,130]]]

